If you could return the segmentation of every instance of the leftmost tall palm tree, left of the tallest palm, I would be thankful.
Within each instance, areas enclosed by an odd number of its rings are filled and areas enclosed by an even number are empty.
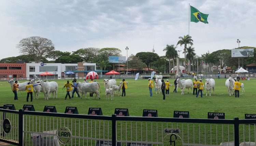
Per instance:
[[[173,63],[173,72],[174,72],[174,58],[178,56],[177,50],[175,50],[177,47],[174,47],[174,44],[166,45],[166,48],[163,49],[163,51],[166,51],[165,56],[169,60],[169,73],[171,73],[171,58],[172,58],[172,63]]]

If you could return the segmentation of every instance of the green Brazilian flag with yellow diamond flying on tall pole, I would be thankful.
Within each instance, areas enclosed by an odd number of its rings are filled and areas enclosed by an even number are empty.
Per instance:
[[[208,23],[207,17],[209,14],[203,14],[199,12],[195,7],[190,5],[190,22],[203,22]]]

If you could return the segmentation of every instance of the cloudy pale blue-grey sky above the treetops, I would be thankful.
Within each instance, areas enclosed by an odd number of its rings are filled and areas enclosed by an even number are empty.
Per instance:
[[[122,55],[160,56],[179,36],[194,40],[196,54],[256,47],[255,0],[0,0],[1,56],[20,55],[18,42],[30,36],[52,40],[55,50],[118,48]],[[209,14],[209,24],[190,22],[189,3]],[[184,46],[178,45],[177,50]],[[184,57],[184,54],[180,54]]]

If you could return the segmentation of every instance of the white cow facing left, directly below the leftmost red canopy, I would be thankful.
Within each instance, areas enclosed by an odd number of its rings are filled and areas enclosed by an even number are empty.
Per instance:
[[[37,81],[37,83],[40,83],[42,86],[42,92],[44,93],[44,99],[49,98],[49,93],[53,93],[54,98],[54,92],[55,92],[55,98],[57,98],[57,91],[58,91],[58,84],[55,81]]]

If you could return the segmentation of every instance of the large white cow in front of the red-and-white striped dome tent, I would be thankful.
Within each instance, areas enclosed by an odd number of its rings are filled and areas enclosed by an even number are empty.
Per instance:
[[[77,86],[80,88],[81,92],[82,92],[82,95],[81,95],[81,99],[82,99],[82,96],[85,95],[85,99],[86,98],[86,93],[89,92],[89,93],[96,93],[96,96],[94,99],[96,99],[97,96],[99,96],[99,99],[100,99],[100,92],[98,91],[100,89],[100,84],[96,81],[92,82],[92,83],[80,83],[78,82],[77,83]]]

